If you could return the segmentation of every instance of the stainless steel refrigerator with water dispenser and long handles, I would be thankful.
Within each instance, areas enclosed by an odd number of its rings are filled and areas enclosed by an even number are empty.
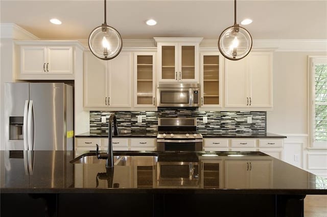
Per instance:
[[[6,83],[6,150],[73,150],[73,87]]]

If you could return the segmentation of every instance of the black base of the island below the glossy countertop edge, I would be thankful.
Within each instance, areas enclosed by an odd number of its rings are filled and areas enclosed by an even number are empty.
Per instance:
[[[303,215],[305,195],[1,194],[2,216],[278,216]]]

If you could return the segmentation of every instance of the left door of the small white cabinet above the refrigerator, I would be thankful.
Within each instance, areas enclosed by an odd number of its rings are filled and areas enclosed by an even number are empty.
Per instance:
[[[20,73],[45,74],[46,73],[46,47],[21,46],[20,47]]]

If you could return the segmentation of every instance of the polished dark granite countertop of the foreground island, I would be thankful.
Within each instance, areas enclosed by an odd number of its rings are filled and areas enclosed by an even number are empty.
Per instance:
[[[88,155],[94,157],[94,152]],[[105,160],[72,164],[74,151],[0,151],[0,192],[327,195],[327,179],[262,152],[114,151],[114,155],[129,156],[116,158],[113,170],[106,170]],[[184,178],[181,184],[172,178],[180,174],[171,168],[179,159],[192,165],[199,163],[198,169],[193,170],[195,180]],[[213,180],[212,171],[201,172],[203,160],[221,164],[217,167],[221,178],[215,182],[217,186],[208,183]],[[254,171],[260,166],[264,170],[252,177],[250,186],[247,180],[237,178],[238,172],[227,171],[227,163],[233,162],[230,160],[237,160],[238,164],[231,167],[236,171],[246,170],[246,165],[248,168],[250,165],[248,170]],[[240,160],[244,160],[242,164]],[[266,174],[262,174],[263,171]]]

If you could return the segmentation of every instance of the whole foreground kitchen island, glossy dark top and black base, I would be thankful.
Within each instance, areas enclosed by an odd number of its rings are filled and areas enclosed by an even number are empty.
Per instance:
[[[262,152],[0,151],[2,216],[303,216],[327,180]],[[187,170],[185,170],[185,168]]]

